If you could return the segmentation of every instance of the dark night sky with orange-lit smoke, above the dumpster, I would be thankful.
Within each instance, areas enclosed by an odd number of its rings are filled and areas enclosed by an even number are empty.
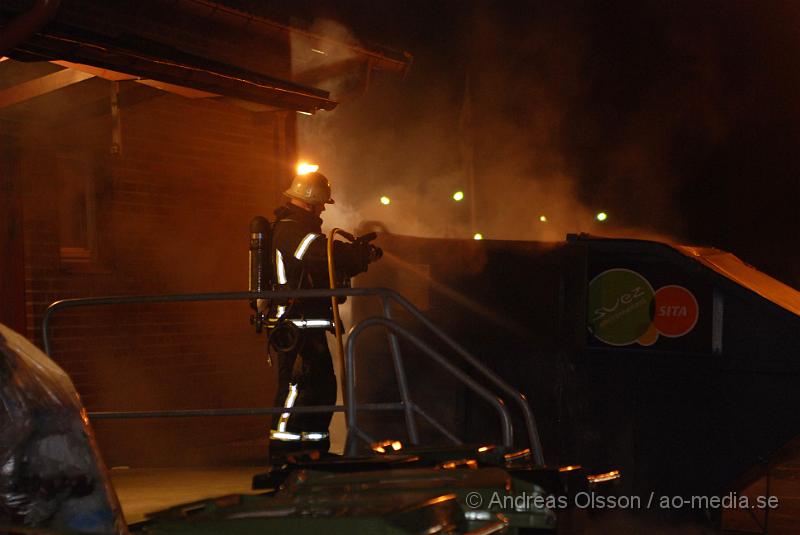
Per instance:
[[[463,182],[469,146],[477,224],[496,237],[661,236],[800,287],[799,2],[301,1],[286,12],[414,55],[405,80],[376,80],[301,139],[312,155],[335,145],[327,169],[334,184],[351,177],[353,206],[377,198],[376,183],[441,198],[436,184]],[[414,206],[417,223],[434,223],[435,203]],[[599,210],[605,226],[591,221]],[[540,213],[554,232],[535,226]]]

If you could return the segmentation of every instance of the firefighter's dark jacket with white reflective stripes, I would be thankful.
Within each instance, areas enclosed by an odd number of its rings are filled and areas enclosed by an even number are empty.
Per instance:
[[[290,203],[275,210],[275,216],[272,260],[278,288],[330,288],[328,240],[322,234],[322,219]],[[363,251],[357,245],[335,241],[333,256],[337,280],[352,277],[367,269]],[[283,319],[329,321],[331,300],[294,300],[279,304],[274,313]]]

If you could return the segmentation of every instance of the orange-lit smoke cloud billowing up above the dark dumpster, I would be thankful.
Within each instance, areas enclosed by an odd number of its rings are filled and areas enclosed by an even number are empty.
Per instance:
[[[540,20],[530,37],[509,37],[500,16],[480,9],[465,15],[450,64],[423,50],[407,80],[376,77],[365,95],[333,112],[298,117],[300,159],[318,163],[333,184],[326,226],[378,221],[398,234],[480,232],[504,240],[556,241],[577,232],[665,237],[617,221],[613,212],[600,222],[606,205],[581,195],[580,155],[564,142],[582,98],[580,28],[562,17]],[[313,27],[355,42],[331,21]],[[555,40],[560,46],[550,44]],[[341,59],[316,56],[317,63]],[[333,98],[346,85],[331,81]],[[620,157],[612,168],[627,161]],[[453,200],[456,191],[463,201]],[[384,196],[390,204],[381,204]]]

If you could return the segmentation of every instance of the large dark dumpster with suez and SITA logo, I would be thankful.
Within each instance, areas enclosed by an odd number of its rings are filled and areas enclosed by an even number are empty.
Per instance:
[[[800,292],[730,253],[588,235],[378,244],[386,260],[359,285],[397,289],[524,393],[548,463],[620,469],[629,492],[718,494],[800,434]],[[368,401],[396,396],[381,335],[360,344]],[[426,410],[485,438],[485,402],[404,354]]]

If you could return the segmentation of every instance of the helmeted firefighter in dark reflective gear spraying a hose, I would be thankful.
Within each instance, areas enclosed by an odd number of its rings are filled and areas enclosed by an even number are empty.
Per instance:
[[[333,204],[331,187],[322,173],[294,177],[284,192],[288,201],[275,210],[272,259],[279,289],[330,288],[327,238],[321,233],[320,215]],[[350,277],[367,270],[379,255],[364,242],[334,242],[338,276]],[[291,300],[273,305],[268,321],[279,343],[276,406],[299,407],[336,404],[336,377],[326,331],[332,330],[330,298]],[[270,430],[270,456],[302,450],[328,451],[328,426],[332,413],[283,413]]]

